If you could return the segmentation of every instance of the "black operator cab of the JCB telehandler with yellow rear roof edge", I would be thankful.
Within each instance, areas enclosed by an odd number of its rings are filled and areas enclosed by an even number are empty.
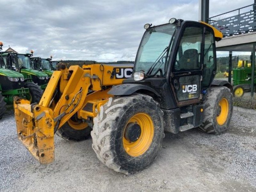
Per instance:
[[[222,38],[221,32],[203,22],[174,18],[144,28],[133,78],[123,83],[143,84],[153,88],[159,98],[170,98],[158,99],[161,108],[202,101],[216,73],[215,40]]]

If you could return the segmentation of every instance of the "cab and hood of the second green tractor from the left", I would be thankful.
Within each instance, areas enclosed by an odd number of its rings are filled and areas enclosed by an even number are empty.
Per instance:
[[[38,84],[42,90],[45,90],[46,85],[49,82],[49,77],[46,73],[34,69],[33,62],[31,60],[32,55],[33,51],[31,51],[31,54],[16,54],[18,61],[17,67],[21,66],[20,72],[22,75],[24,75],[27,81],[34,82]]]

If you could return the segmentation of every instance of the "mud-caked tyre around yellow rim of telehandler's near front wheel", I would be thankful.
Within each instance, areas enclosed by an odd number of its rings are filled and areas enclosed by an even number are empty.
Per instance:
[[[152,119],[151,128],[153,127],[154,133],[151,135],[152,140],[147,142],[148,147],[139,156],[131,156],[124,149],[124,132],[129,125],[128,122],[138,114],[146,114]],[[162,146],[163,114],[159,104],[148,95],[132,94],[109,98],[94,118],[91,132],[92,148],[99,160],[110,169],[125,174],[139,172],[148,167]],[[144,130],[146,129],[147,126]]]

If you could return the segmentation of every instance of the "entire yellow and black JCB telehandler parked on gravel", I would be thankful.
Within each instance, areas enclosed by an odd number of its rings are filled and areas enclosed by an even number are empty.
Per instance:
[[[155,159],[164,131],[227,130],[232,86],[213,80],[215,40],[222,33],[175,18],[144,28],[133,70],[118,64],[68,69],[60,64],[38,104],[14,99],[18,138],[41,164],[54,161],[55,133],[79,141],[91,132],[100,161],[131,173]]]

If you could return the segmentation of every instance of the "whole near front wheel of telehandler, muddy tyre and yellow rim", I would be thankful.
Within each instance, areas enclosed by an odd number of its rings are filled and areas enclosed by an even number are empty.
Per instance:
[[[148,96],[109,98],[94,118],[92,148],[116,172],[133,173],[156,158],[164,137],[163,112]]]

